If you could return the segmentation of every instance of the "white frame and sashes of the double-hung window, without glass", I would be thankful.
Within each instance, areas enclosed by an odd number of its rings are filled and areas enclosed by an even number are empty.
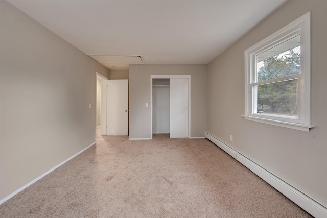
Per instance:
[[[245,50],[245,115],[247,120],[261,122],[265,124],[281,126],[296,130],[309,132],[311,125],[310,117],[310,75],[311,75],[311,13],[299,17],[286,27],[278,30],[262,41]],[[301,68],[300,74],[283,77],[285,79],[298,79],[298,116],[283,116],[275,114],[260,114],[256,113],[256,98],[254,98],[255,85],[260,85],[261,82],[256,82],[256,55],[269,50],[288,39],[300,35],[300,59]],[[275,79],[280,81],[279,79]],[[263,82],[264,83],[264,82]],[[264,83],[265,84],[265,83]],[[255,104],[255,106],[253,106]],[[253,112],[255,111],[255,112]]]

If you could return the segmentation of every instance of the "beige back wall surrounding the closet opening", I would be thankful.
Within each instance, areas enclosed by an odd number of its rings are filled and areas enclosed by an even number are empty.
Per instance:
[[[131,64],[129,67],[129,138],[150,138],[150,75],[191,75],[191,137],[207,128],[207,65]]]

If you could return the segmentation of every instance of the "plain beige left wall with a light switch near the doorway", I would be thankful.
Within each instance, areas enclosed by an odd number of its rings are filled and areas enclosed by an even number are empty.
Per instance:
[[[96,71],[109,71],[6,1],[0,27],[3,199],[95,142]]]

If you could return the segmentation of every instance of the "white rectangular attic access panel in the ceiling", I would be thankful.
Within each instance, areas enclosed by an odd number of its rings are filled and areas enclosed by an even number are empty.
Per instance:
[[[143,64],[141,55],[89,55],[100,64]]]

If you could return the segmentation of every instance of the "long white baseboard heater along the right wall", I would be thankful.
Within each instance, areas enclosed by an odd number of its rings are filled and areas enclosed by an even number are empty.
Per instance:
[[[314,217],[327,217],[327,208],[322,204],[310,198],[305,193],[288,184],[281,178],[270,173],[265,168],[256,164],[235,149],[230,148],[227,144],[220,141],[210,133],[206,132],[205,137]]]

